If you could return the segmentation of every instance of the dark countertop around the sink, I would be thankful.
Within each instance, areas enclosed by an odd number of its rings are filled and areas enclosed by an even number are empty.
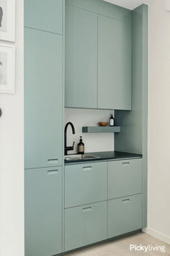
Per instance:
[[[84,162],[95,162],[95,161],[114,161],[114,160],[124,160],[124,159],[133,159],[133,158],[142,158],[141,154],[127,153],[127,152],[118,152],[118,151],[105,151],[105,152],[91,152],[85,153],[85,155],[94,155],[98,158],[93,159],[79,159],[73,161],[66,161],[65,165],[70,165],[71,163],[84,163]]]

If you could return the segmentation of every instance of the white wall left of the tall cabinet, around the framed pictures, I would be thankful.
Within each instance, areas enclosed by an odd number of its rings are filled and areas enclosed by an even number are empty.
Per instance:
[[[0,94],[0,255],[24,256],[23,0],[17,0],[16,93]]]

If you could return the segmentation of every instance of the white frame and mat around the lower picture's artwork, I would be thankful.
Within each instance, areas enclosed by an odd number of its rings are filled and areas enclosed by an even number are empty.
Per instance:
[[[0,43],[0,52],[6,53],[6,83],[0,85],[0,93],[15,92],[15,47]],[[1,61],[1,59],[0,59]],[[1,69],[1,66],[0,66]]]

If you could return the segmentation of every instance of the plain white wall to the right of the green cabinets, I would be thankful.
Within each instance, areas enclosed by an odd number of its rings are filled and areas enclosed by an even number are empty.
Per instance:
[[[148,233],[170,243],[170,12],[149,8]]]

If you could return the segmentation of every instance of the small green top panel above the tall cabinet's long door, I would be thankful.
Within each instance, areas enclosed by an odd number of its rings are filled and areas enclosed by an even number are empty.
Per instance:
[[[63,33],[63,0],[24,0],[24,26]]]

